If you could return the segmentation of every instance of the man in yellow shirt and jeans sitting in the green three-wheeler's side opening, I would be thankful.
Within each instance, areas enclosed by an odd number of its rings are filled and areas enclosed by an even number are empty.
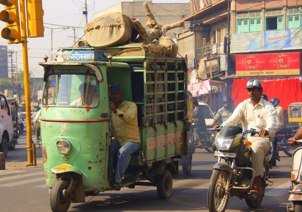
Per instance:
[[[111,184],[113,188],[121,188],[122,177],[129,165],[131,155],[140,147],[140,132],[137,124],[137,106],[133,102],[122,99],[119,82],[113,82],[111,96],[112,101],[109,102],[109,108],[113,112],[114,136],[112,161],[116,159],[117,165],[114,170],[114,180],[110,180],[113,181]]]

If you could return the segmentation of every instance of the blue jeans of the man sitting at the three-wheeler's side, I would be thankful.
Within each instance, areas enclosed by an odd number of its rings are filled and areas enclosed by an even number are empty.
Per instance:
[[[118,140],[112,139],[112,164],[115,161],[114,157],[116,157],[117,165],[115,169],[114,182],[120,183],[122,181],[122,177],[129,165],[131,156],[135,153],[140,147],[140,143],[130,141],[124,144],[124,146],[120,146]],[[113,176],[113,175],[112,175]]]

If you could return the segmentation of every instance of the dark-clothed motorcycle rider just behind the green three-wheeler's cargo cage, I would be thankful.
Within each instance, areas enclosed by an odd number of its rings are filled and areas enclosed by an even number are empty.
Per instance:
[[[200,132],[206,132],[206,121],[204,119],[204,114],[202,113],[201,107],[199,107],[198,101],[193,100],[193,113],[192,113],[192,118],[194,122],[194,130],[193,130],[193,135],[195,141],[198,141],[198,145],[201,146],[201,141],[200,141]],[[197,142],[196,142],[197,143]]]

